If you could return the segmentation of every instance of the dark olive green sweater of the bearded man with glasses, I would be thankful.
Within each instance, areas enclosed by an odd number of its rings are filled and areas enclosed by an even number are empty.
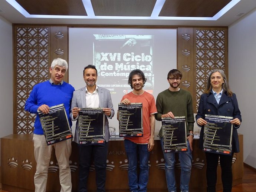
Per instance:
[[[186,116],[187,133],[188,130],[194,129],[194,112],[193,100],[190,92],[180,89],[172,92],[169,89],[164,90],[157,96],[157,113],[155,119],[161,121],[161,116],[168,112],[172,112],[175,117]],[[162,128],[160,129],[159,136],[163,137]]]

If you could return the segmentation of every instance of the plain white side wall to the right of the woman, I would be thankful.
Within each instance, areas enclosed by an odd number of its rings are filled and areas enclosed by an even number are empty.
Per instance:
[[[256,168],[256,9],[229,26],[229,83],[242,115],[244,162]]]

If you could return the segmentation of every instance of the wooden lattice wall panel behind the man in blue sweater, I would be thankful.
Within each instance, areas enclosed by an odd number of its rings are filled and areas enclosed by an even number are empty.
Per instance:
[[[48,79],[48,27],[14,27],[14,133],[33,133],[35,115],[24,111],[34,85]]]

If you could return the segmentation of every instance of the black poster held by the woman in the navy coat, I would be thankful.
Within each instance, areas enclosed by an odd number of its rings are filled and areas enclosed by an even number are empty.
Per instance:
[[[205,115],[203,149],[206,152],[231,155],[233,117]]]

